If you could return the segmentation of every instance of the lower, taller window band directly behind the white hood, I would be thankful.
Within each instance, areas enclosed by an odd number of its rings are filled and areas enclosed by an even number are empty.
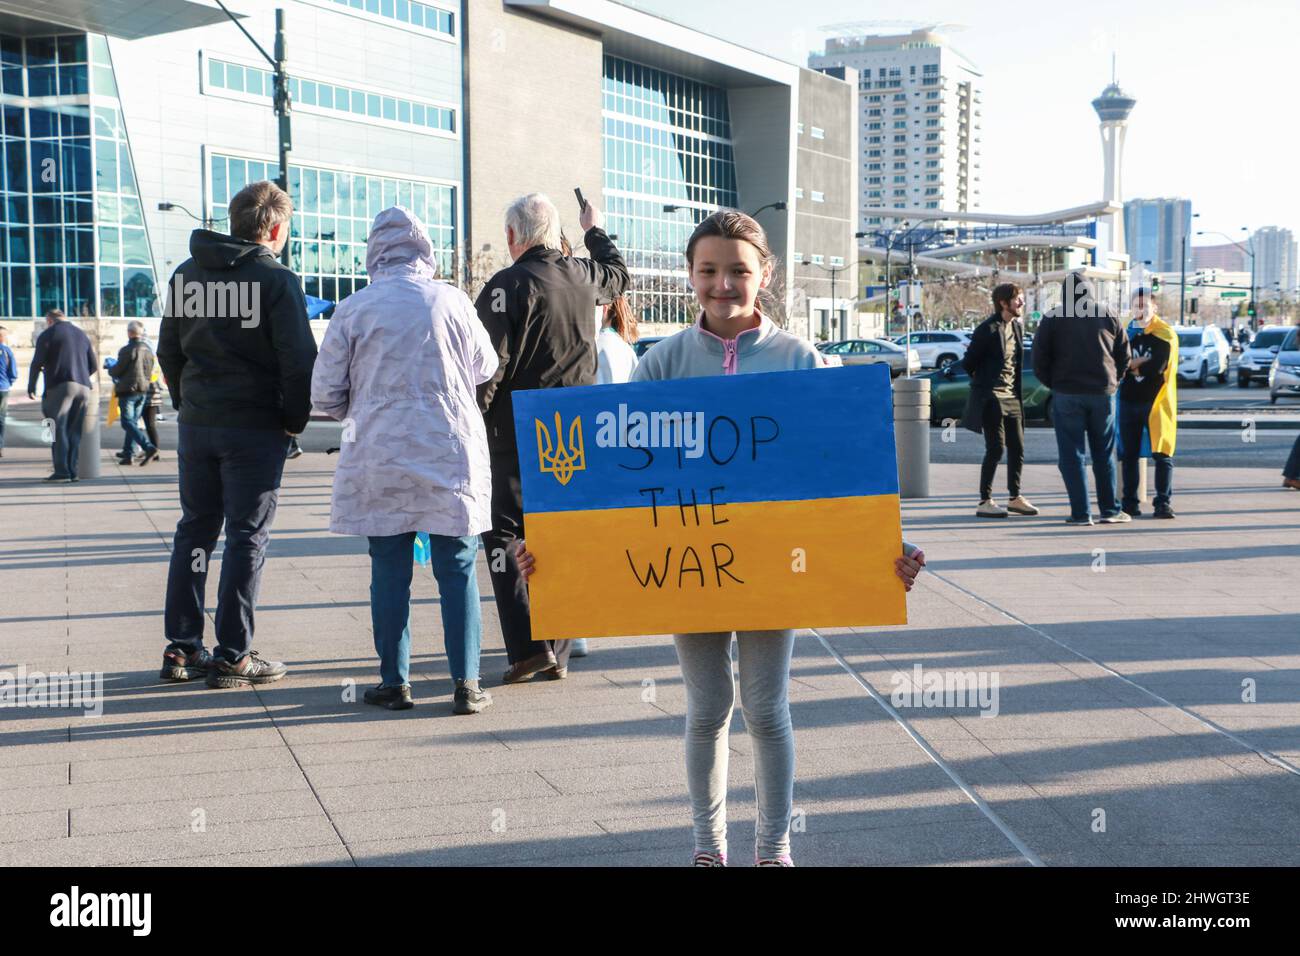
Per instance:
[[[235,193],[278,176],[273,161],[212,153],[208,208],[213,228],[229,230],[228,204]],[[290,163],[289,195],[294,200],[289,261],[308,295],[338,302],[365,287],[365,239],[370,222],[390,206],[403,206],[420,217],[433,241],[439,274],[452,274],[454,186]]]

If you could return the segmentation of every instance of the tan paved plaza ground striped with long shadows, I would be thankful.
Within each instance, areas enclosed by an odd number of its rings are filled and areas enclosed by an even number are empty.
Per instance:
[[[333,463],[287,463],[272,536],[256,646],[290,676],[209,691],[157,682],[174,458],[44,485],[43,449],[6,449],[0,671],[99,670],[105,700],[99,718],[0,710],[0,864],[686,864],[666,637],[593,640],[568,680],[500,687],[481,567],[495,705],[452,717],[417,574],[417,708],[344,700],[377,667],[364,542],[325,531]],[[1043,516],[975,519],[976,468],[936,466],[933,497],[904,505],[933,571],[906,628],[797,640],[796,861],[1300,864],[1300,494],[1274,470],[1183,468],[1178,520],[1067,528],[1048,466],[1024,481]],[[888,702],[915,665],[996,675],[998,714],[894,719],[867,688]],[[741,865],[751,775],[737,713]]]

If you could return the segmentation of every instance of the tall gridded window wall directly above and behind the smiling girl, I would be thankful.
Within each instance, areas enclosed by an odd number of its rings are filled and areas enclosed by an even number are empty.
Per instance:
[[[689,323],[686,239],[737,203],[727,92],[614,56],[603,73],[606,228],[619,237],[641,320]]]

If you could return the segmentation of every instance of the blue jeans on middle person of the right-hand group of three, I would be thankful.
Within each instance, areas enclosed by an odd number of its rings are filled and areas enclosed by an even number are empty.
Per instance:
[[[1115,503],[1115,397],[1052,395],[1052,420],[1057,433],[1057,467],[1070,496],[1070,516],[1088,518],[1087,450],[1097,483],[1097,507],[1102,518],[1119,514]]]

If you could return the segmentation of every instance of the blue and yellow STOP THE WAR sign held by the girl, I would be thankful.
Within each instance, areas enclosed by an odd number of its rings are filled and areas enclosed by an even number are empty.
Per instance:
[[[887,367],[512,399],[534,640],[906,623]]]

